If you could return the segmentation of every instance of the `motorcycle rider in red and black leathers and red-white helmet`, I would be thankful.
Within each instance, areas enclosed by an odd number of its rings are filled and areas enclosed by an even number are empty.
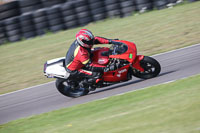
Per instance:
[[[90,61],[91,48],[94,44],[115,44],[117,42],[112,39],[97,37],[87,29],[81,29],[76,33],[76,40],[71,44],[65,59],[67,72],[70,77],[86,77],[86,84],[93,84],[96,79],[100,78],[103,72],[113,71],[116,69],[115,65],[101,66],[92,65]]]

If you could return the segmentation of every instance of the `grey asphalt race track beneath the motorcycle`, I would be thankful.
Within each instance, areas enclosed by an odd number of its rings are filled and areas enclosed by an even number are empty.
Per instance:
[[[158,77],[148,80],[133,78],[128,82],[97,89],[79,98],[63,96],[56,90],[54,82],[0,95],[0,124],[200,73],[200,44],[153,57],[162,67]]]

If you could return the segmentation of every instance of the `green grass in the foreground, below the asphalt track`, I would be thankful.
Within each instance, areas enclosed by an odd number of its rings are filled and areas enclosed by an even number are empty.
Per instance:
[[[0,126],[1,133],[199,133],[200,75]],[[134,85],[133,85],[134,87]]]

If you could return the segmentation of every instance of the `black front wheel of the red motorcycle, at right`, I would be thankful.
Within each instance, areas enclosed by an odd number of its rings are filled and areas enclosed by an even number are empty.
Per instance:
[[[144,59],[140,61],[140,65],[142,68],[144,68],[144,72],[134,70],[133,76],[141,79],[154,78],[158,76],[161,71],[159,62],[152,57],[145,56]]]

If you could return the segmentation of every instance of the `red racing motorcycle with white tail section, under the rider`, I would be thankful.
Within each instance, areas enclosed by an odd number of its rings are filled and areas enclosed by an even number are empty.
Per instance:
[[[104,72],[100,79],[96,80],[93,88],[101,88],[132,79],[132,76],[141,79],[156,77],[161,66],[152,57],[137,55],[137,49],[133,42],[116,40],[119,45],[110,48],[98,47],[92,50],[92,63],[98,65],[115,64],[118,69]],[[44,75],[48,78],[57,78],[56,88],[60,93],[68,97],[87,95],[92,91],[88,85],[80,85],[83,78],[70,78],[65,70],[65,57],[47,61],[44,65]]]

